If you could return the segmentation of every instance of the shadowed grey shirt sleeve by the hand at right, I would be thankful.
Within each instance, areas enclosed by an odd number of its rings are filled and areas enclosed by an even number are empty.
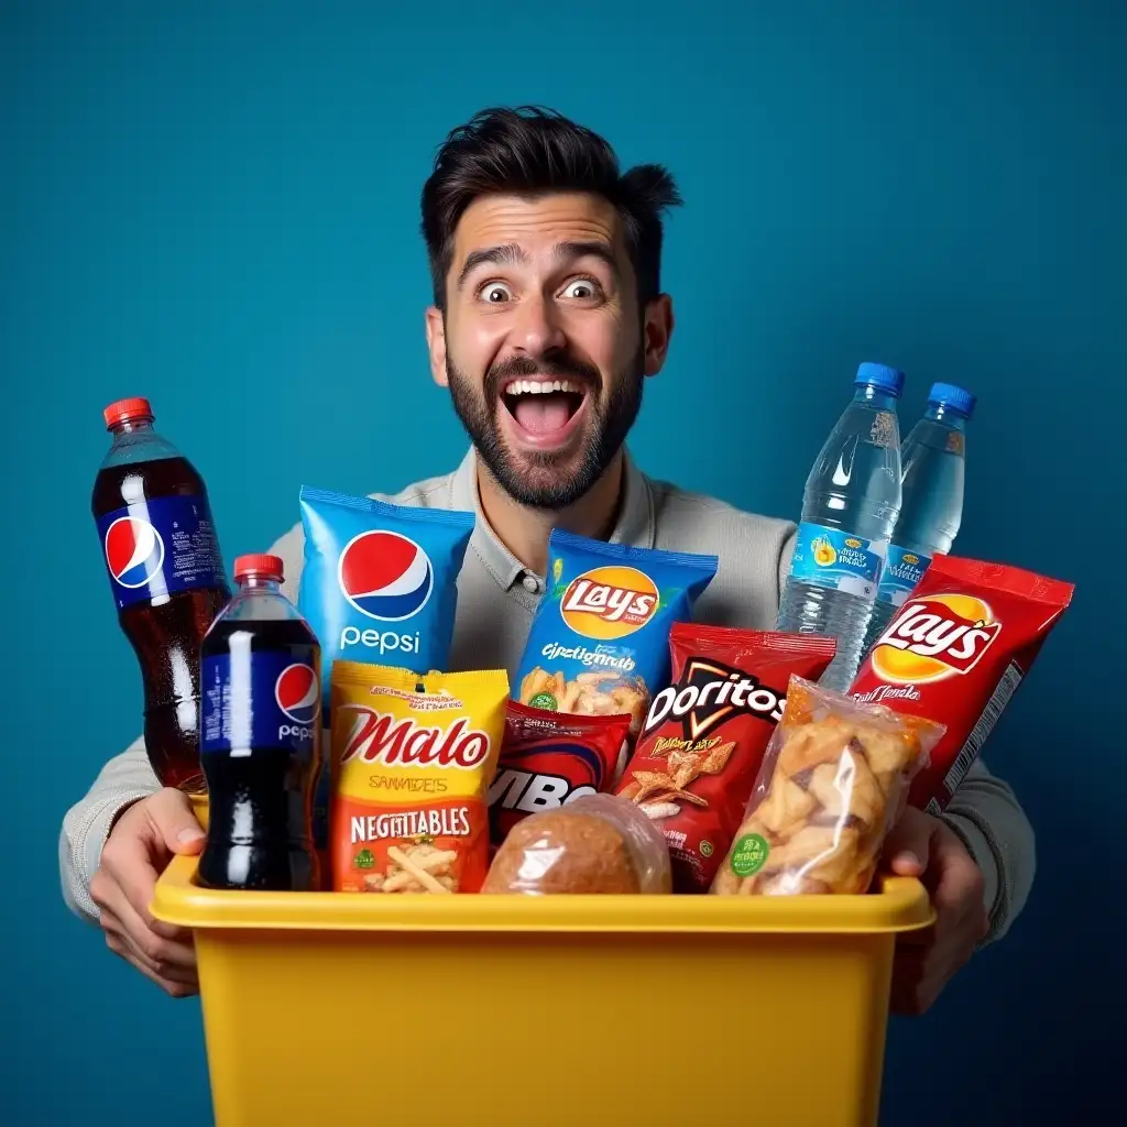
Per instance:
[[[1033,827],[1010,786],[991,774],[982,760],[971,765],[941,818],[966,845],[986,881],[990,931],[983,943],[1001,939],[1032,888]]]

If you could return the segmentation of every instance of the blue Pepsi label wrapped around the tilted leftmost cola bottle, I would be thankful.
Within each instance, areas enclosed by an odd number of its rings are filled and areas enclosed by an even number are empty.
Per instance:
[[[153,497],[107,513],[98,534],[117,609],[224,584],[204,497]]]

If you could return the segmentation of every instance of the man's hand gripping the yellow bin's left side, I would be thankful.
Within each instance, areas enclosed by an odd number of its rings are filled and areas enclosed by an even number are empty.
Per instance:
[[[112,951],[132,962],[172,997],[199,990],[192,932],[149,914],[157,877],[174,853],[198,853],[204,832],[192,804],[166,787],[131,806],[116,822],[90,880]]]

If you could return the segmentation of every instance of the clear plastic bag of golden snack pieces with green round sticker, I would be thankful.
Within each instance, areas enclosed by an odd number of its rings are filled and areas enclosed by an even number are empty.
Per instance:
[[[866,893],[946,726],[792,676],[744,822],[711,891]]]

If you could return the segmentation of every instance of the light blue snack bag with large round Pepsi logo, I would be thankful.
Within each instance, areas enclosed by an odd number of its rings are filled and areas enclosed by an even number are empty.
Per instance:
[[[305,562],[298,610],[321,644],[321,715],[331,725],[337,659],[423,674],[446,669],[473,514],[411,508],[327,489],[301,489]],[[328,743],[326,747],[330,746]],[[313,835],[327,840],[329,771],[318,781]]]

